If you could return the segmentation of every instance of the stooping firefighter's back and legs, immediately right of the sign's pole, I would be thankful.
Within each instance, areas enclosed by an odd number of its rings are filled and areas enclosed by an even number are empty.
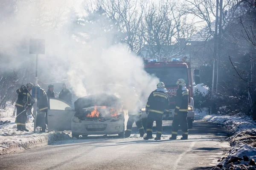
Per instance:
[[[38,87],[40,87],[38,85]],[[45,123],[46,125],[48,124],[47,122],[47,111],[48,111],[48,98],[47,98],[47,93],[40,87],[40,98],[38,98],[38,111],[45,112]],[[45,132],[46,125],[42,127],[41,133]]]

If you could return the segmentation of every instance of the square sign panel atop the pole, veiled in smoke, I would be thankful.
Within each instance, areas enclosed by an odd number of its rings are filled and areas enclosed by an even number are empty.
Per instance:
[[[44,39],[30,39],[29,40],[29,54],[44,54]]]

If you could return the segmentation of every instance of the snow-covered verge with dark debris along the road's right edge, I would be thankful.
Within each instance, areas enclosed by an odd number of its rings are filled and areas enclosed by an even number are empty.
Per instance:
[[[249,119],[247,117],[247,119]],[[224,125],[228,128],[231,150],[228,156],[220,160],[214,170],[255,170],[256,169],[256,125],[240,116],[204,116],[202,120]],[[250,121],[252,121],[250,119]]]

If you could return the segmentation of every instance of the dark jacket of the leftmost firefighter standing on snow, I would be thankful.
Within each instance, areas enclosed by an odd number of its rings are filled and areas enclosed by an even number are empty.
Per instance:
[[[18,94],[18,98],[15,106],[22,108],[32,107],[34,101],[31,99],[31,96],[26,88],[24,90],[22,88],[17,89],[16,93]]]

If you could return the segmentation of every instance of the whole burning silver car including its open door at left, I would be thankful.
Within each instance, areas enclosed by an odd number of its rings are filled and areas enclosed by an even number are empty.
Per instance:
[[[61,99],[49,98],[48,130],[71,130],[72,137],[77,139],[79,135],[100,134],[118,134],[119,137],[124,137],[128,110],[124,110],[122,106],[122,99],[117,93],[81,97],[74,103],[74,108]]]

